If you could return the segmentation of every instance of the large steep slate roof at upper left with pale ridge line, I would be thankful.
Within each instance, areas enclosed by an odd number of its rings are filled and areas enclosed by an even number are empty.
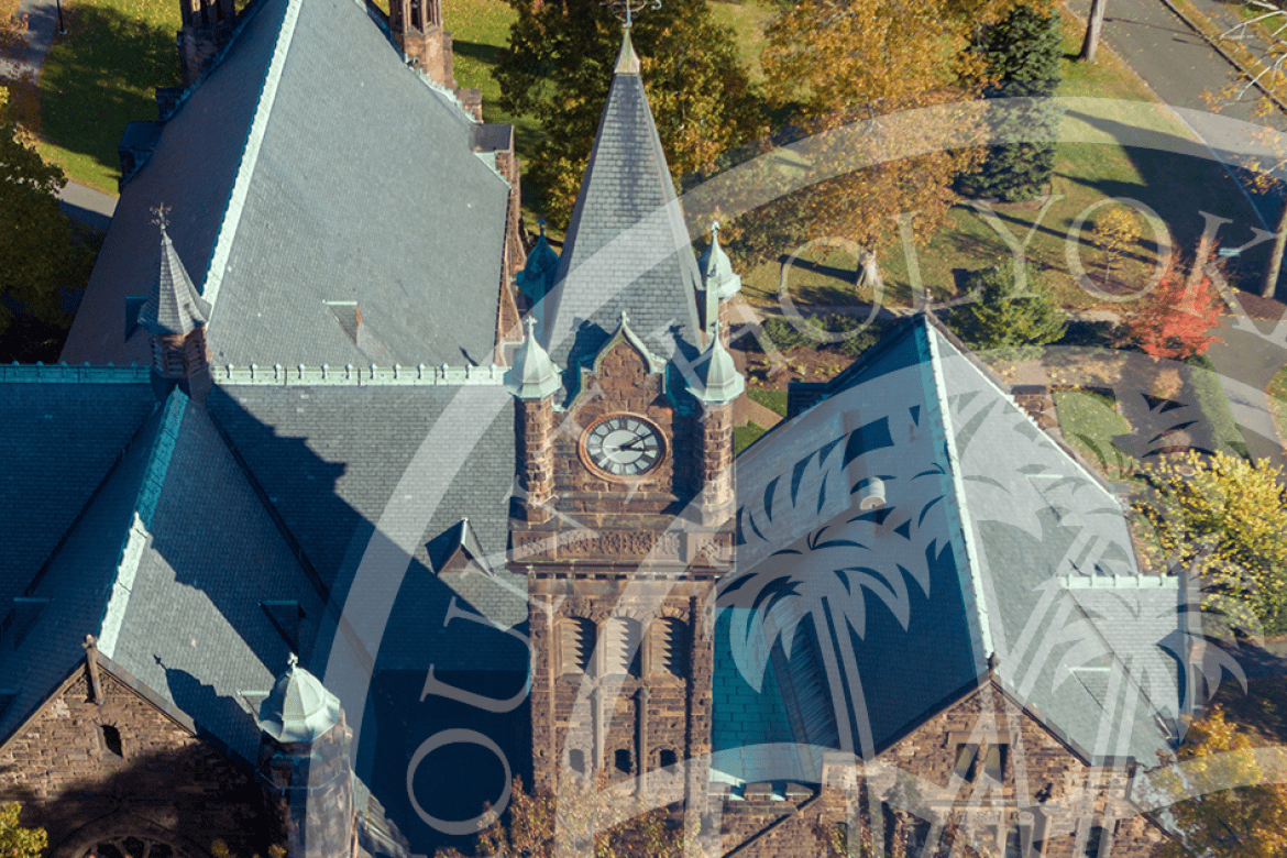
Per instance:
[[[475,127],[360,4],[256,4],[124,188],[64,359],[149,360],[145,331],[124,338],[125,298],[154,287],[139,244],[165,203],[215,364],[485,361],[508,185]],[[359,301],[366,350],[326,301]]]

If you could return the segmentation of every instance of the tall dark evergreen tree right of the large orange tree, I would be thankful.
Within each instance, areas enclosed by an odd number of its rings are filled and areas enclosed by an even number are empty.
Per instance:
[[[996,145],[988,147],[977,172],[960,179],[959,189],[968,197],[1003,202],[1031,199],[1054,172],[1062,112],[1049,99],[1062,77],[1059,17],[1017,5],[1000,23],[987,28],[979,49],[988,76],[996,81],[985,98],[1032,100],[1008,102],[991,117],[991,139]]]

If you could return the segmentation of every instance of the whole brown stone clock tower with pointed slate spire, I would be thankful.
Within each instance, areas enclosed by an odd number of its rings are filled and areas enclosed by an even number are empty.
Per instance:
[[[716,268],[694,256],[627,35],[555,287],[506,374],[537,789],[633,780],[704,807],[704,768],[683,762],[710,751],[744,388],[718,323],[735,289]]]

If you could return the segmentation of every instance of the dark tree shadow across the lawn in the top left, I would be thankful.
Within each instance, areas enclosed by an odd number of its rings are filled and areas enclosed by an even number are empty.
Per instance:
[[[125,126],[157,118],[154,90],[179,84],[175,27],[112,8],[72,5],[68,35],[40,76],[41,138],[117,170]]]

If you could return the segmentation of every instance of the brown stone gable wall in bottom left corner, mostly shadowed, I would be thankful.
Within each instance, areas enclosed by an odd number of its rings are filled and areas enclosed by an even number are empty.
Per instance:
[[[234,762],[100,669],[102,704],[84,669],[0,747],[0,803],[49,832],[48,858],[81,858],[135,836],[198,858],[215,840],[266,854],[263,792]],[[247,715],[248,718],[248,715]]]

